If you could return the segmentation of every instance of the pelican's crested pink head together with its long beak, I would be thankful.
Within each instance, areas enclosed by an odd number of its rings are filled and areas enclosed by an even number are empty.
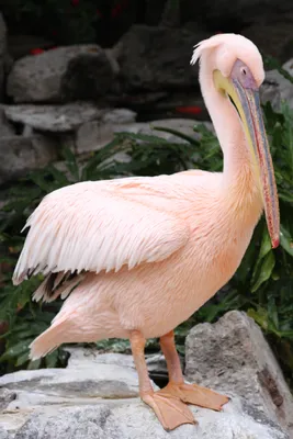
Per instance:
[[[210,56],[215,89],[238,110],[251,161],[258,175],[272,247],[279,246],[280,216],[270,147],[262,120],[259,88],[264,79],[257,46],[241,35],[219,34],[195,46],[191,64]]]

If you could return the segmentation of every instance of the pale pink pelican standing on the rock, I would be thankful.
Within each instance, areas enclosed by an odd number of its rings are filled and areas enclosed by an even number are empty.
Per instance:
[[[259,87],[264,71],[247,38],[199,43],[200,85],[224,155],[223,172],[79,182],[44,198],[13,274],[44,274],[34,300],[65,300],[31,345],[41,358],[61,344],[128,338],[140,398],[166,430],[195,424],[188,404],[219,410],[225,395],[184,383],[173,329],[235,273],[264,211],[279,245],[279,203]],[[159,337],[169,383],[154,392],[147,338]]]

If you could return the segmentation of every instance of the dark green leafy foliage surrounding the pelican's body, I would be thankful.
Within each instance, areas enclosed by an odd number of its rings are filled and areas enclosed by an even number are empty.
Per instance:
[[[278,354],[289,381],[293,381],[293,112],[282,105],[280,113],[270,104],[263,108],[267,131],[275,168],[281,210],[281,245],[277,250],[271,244],[263,219],[258,224],[245,258],[232,281],[188,322],[177,328],[178,348],[183,352],[184,337],[190,327],[201,322],[214,322],[229,309],[244,309],[261,326]],[[169,143],[158,136],[120,133],[111,144],[78,162],[70,150],[64,150],[66,171],[54,166],[31,173],[14,185],[10,202],[0,217],[0,245],[5,267],[0,282],[0,322],[8,323],[1,336],[3,371],[18,368],[61,367],[65,352],[59,349],[42,362],[27,359],[27,346],[41,334],[57,313],[60,302],[38,305],[31,295],[41,281],[32,278],[15,288],[11,284],[12,270],[23,245],[20,235],[25,219],[41,199],[48,192],[83,180],[111,179],[127,176],[156,176],[173,173],[190,168],[217,171],[222,169],[222,154],[217,139],[204,126],[194,128],[201,140],[182,133],[167,131],[185,143]],[[131,156],[129,162],[120,162],[116,153]],[[1,341],[0,340],[0,341]],[[102,340],[102,350],[125,351],[125,340]],[[149,350],[158,349],[149,340]]]

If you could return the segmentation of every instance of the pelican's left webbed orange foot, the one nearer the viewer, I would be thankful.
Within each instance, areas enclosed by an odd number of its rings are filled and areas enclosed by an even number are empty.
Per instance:
[[[170,431],[183,424],[198,424],[189,407],[171,393],[159,391],[142,395],[157,415],[165,430]]]

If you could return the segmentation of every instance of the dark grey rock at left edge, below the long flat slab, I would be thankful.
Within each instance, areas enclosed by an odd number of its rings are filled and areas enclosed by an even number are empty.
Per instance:
[[[0,138],[0,184],[56,159],[56,144],[42,135]]]

